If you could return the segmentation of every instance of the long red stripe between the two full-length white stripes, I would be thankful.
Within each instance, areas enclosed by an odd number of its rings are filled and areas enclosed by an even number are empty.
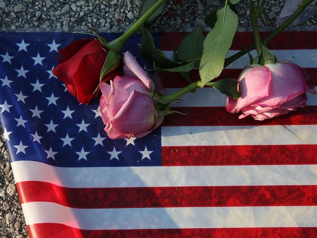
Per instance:
[[[317,185],[64,188],[17,183],[21,203],[46,201],[73,208],[317,205]]]

